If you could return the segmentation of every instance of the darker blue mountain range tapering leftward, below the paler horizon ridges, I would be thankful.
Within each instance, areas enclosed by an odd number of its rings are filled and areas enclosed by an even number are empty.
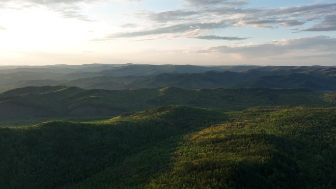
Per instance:
[[[79,86],[86,89],[139,89],[173,86],[186,89],[197,88],[307,88],[313,91],[336,90],[336,68],[310,69],[297,71],[217,72],[190,74],[159,74],[153,76],[95,77],[64,83],[66,86]]]

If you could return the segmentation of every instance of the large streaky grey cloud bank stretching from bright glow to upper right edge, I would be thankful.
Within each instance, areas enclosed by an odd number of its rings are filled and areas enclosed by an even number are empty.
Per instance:
[[[200,35],[200,31],[207,32],[212,29],[227,27],[274,29],[278,27],[297,27],[295,32],[336,30],[336,3],[315,3],[282,8],[244,8],[247,1],[185,0],[185,2],[192,6],[182,6],[182,9],[163,12],[142,11],[137,13],[137,17],[154,21],[155,24],[152,25],[152,28],[112,33],[104,37],[104,40],[179,33],[183,33],[183,35],[178,35],[179,37],[189,37],[187,33],[192,33],[193,38],[198,39],[230,40],[230,38],[226,39],[225,37]],[[326,12],[330,15],[326,16]],[[321,20],[323,21],[321,22]],[[308,29],[299,28],[308,22],[320,23]],[[138,28],[141,28],[141,26]],[[240,37],[237,37],[237,39],[240,39]]]

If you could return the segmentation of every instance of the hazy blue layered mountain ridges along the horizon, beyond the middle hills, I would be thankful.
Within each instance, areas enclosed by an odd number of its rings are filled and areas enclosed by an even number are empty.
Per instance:
[[[69,67],[71,73],[43,72],[59,67]],[[34,69],[36,72],[30,72]],[[59,65],[29,70],[2,74],[4,70],[0,70],[0,92],[45,85],[111,90],[173,86],[185,89],[264,87],[336,91],[336,67],[323,66],[98,64],[77,67]]]

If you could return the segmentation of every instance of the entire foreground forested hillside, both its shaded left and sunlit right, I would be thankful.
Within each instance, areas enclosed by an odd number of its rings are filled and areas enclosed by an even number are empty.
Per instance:
[[[336,108],[168,106],[0,129],[2,189],[334,189]]]

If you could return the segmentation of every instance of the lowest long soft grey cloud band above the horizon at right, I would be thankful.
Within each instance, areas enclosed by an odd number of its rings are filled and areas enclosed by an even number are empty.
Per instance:
[[[217,46],[206,49],[189,51],[188,53],[220,53],[240,54],[244,57],[257,58],[277,56],[297,51],[336,52],[336,38],[328,36],[314,36],[297,39],[272,41],[256,45]]]

